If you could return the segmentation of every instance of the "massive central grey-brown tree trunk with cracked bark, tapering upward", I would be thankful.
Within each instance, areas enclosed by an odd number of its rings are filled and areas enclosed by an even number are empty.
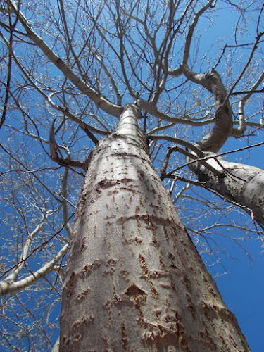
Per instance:
[[[60,351],[250,351],[127,106],[96,146],[75,215]]]

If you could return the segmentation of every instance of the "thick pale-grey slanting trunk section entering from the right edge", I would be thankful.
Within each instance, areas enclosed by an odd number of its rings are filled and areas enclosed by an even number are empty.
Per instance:
[[[210,155],[210,154],[208,154]],[[252,211],[259,224],[264,225],[264,171],[254,166],[231,163],[220,157],[208,158],[206,163],[221,173],[215,175],[201,163],[192,163],[190,168],[206,187],[217,191],[230,201]]]

